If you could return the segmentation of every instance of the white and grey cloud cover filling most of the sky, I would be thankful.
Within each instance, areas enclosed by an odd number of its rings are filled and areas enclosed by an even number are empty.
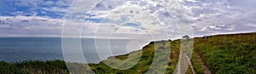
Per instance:
[[[109,37],[109,32],[115,31],[117,37],[148,37],[148,31],[154,36],[169,35],[178,37],[177,34],[191,34],[194,29],[195,36],[216,34],[224,32],[255,31],[256,1],[253,0],[154,0],[154,1],[124,1],[103,0],[102,2],[90,0],[76,0],[70,11],[60,7],[44,8],[51,12],[68,12],[69,19],[83,21],[85,14],[92,14],[90,19],[106,20],[102,23],[88,21],[84,26],[84,37],[94,37],[96,28],[99,27],[99,37]],[[60,0],[55,4],[63,6],[72,0]],[[52,4],[48,1],[45,4]],[[20,6],[37,5],[35,2],[19,3]],[[94,7],[96,6],[96,7]],[[92,9],[90,11],[90,9]],[[16,12],[21,13],[22,12]],[[36,12],[38,13],[38,12]],[[35,19],[36,18],[36,19]],[[14,28],[17,31],[54,29],[61,30],[61,20],[43,17],[17,16],[1,17],[2,32],[14,32],[3,28]],[[27,22],[27,21],[29,22]],[[112,22],[111,22],[112,20]],[[113,22],[114,21],[114,22]],[[9,22],[9,23],[6,23]],[[125,23],[139,23],[137,26],[125,26]],[[192,27],[191,27],[192,26]],[[179,32],[181,31],[181,32]],[[25,32],[23,32],[26,34]],[[22,34],[23,34],[22,33]],[[56,33],[56,32],[55,32]],[[61,34],[61,31],[58,31]],[[46,34],[44,32],[44,34]],[[161,37],[163,38],[163,37]]]

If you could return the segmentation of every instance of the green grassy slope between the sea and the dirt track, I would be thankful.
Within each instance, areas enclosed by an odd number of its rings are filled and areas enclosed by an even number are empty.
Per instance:
[[[166,41],[164,41],[166,42]],[[172,48],[171,51],[171,55],[170,55],[170,62],[168,63],[168,67],[166,69],[166,73],[172,73],[176,67],[177,64],[177,60],[178,60],[178,54],[179,54],[179,45],[178,45],[178,41],[174,41],[174,42],[166,42],[166,46],[164,48],[159,48],[159,47],[163,47],[161,46],[161,43],[150,43],[147,46],[145,46],[142,50],[143,50],[143,54],[141,57],[141,60],[139,60],[139,62],[137,63],[137,65],[133,66],[132,68],[128,69],[128,70],[117,70],[117,69],[113,69],[111,67],[109,67],[108,65],[105,65],[103,62],[101,62],[100,64],[90,64],[90,68],[92,68],[93,71],[96,71],[96,73],[144,73],[146,71],[148,71],[149,66],[152,64],[152,61],[154,59],[154,47],[158,50],[160,50],[160,54],[165,54],[166,50]],[[170,46],[170,44],[172,45],[172,47]],[[132,53],[136,53],[136,52],[132,52]],[[171,57],[172,56],[172,57]],[[162,57],[162,56],[160,56]],[[125,58],[127,58],[127,54],[125,55],[119,55],[116,56],[117,59],[119,60],[124,60]],[[109,60],[109,59],[108,59]],[[157,69],[156,69],[157,70]]]

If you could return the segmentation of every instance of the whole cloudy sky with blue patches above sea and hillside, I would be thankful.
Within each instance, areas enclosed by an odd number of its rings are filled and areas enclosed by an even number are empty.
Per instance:
[[[1,0],[0,37],[176,39],[256,31],[255,0]],[[73,22],[70,23],[69,21]]]

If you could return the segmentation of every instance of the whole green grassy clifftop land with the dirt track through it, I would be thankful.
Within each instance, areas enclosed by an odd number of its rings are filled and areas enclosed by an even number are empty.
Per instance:
[[[230,35],[217,35],[217,36],[207,36],[207,37],[195,37],[193,38],[193,54],[191,58],[192,67],[188,67],[186,74],[193,74],[193,71],[197,74],[202,73],[256,73],[256,33],[245,33],[245,34],[230,34]],[[181,40],[175,41],[158,41],[151,42],[143,49],[131,52],[130,54],[124,54],[119,56],[113,56],[119,60],[126,60],[121,63],[118,61],[113,61],[113,57],[109,57],[108,60],[103,60],[99,64],[89,64],[90,68],[96,72],[96,74],[143,74],[146,71],[149,73],[158,73],[157,71],[163,71],[166,68],[166,74],[172,74],[177,68],[177,61],[179,58],[180,51],[189,53],[192,51],[186,51],[186,48],[180,47],[183,43]],[[186,44],[184,44],[186,45]],[[192,46],[190,46],[192,47]],[[171,52],[168,55],[168,52]],[[156,54],[155,54],[156,53]],[[137,57],[137,55],[142,55],[142,57]],[[188,54],[190,57],[191,54]],[[133,57],[127,60],[127,57]],[[154,57],[157,57],[154,60]],[[168,57],[168,59],[166,58]],[[169,59],[170,58],[170,59]],[[182,58],[183,59],[183,58]],[[185,59],[185,58],[184,58]],[[116,68],[124,68],[124,66],[131,66],[138,61],[134,66],[127,70],[119,70],[109,67],[104,62],[108,64],[115,65]],[[169,62],[163,62],[169,61]],[[48,61],[49,62],[49,61]],[[46,71],[44,67],[55,67],[47,69],[49,73],[67,73],[67,67],[64,65],[63,61],[59,63],[48,63],[48,62],[20,62],[20,63],[6,63],[0,62],[0,73],[12,73],[10,71],[26,71],[32,73],[39,73],[40,71]],[[55,61],[56,62],[56,61]],[[57,61],[58,62],[58,61]],[[111,63],[112,62],[112,63]],[[152,63],[154,62],[154,64]],[[189,61],[186,61],[189,62]],[[41,66],[42,65],[42,66]],[[47,65],[47,66],[43,66]],[[50,65],[50,66],[49,66]],[[72,63],[70,65],[81,64]],[[150,71],[151,65],[168,65],[158,68],[154,68],[154,71]],[[42,68],[40,68],[42,67]],[[82,69],[78,66],[69,67],[69,69]],[[76,72],[77,71],[71,71]],[[17,72],[15,72],[17,73]]]

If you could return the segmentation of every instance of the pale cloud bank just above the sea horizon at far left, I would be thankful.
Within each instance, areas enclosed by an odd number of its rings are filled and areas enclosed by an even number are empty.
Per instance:
[[[60,37],[61,21],[37,16],[0,16],[1,37]]]

